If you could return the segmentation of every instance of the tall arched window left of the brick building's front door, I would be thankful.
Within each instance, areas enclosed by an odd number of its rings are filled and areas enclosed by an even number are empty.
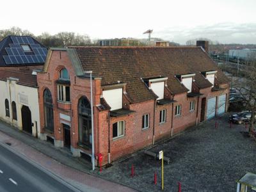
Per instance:
[[[49,89],[44,90],[44,124],[45,129],[54,132],[52,94]]]

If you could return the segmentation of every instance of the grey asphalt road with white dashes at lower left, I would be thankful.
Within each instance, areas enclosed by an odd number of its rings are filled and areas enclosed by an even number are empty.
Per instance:
[[[1,192],[73,191],[61,179],[45,172],[0,145]]]

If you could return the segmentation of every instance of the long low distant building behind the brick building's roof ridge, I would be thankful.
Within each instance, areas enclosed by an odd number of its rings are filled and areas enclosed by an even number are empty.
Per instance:
[[[100,46],[139,46],[139,40],[133,38],[114,38],[99,40]]]

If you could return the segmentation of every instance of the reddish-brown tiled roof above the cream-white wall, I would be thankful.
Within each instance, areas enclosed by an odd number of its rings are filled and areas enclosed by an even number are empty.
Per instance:
[[[36,87],[37,81],[36,76],[32,74],[28,74],[25,72],[17,72],[13,70],[3,70],[0,68],[0,80],[6,81],[8,78],[19,79],[17,84],[22,84],[25,86]]]

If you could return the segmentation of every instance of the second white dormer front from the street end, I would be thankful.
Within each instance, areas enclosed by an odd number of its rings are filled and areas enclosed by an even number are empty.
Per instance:
[[[157,100],[164,99],[164,85],[167,79],[168,77],[148,79],[148,85],[151,90],[157,95]]]

